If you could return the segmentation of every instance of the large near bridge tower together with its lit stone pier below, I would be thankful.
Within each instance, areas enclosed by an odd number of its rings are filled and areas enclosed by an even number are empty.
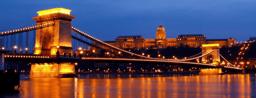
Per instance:
[[[36,25],[54,22],[54,25],[36,30],[34,54],[60,55],[72,53],[71,20],[75,18],[65,8],[52,8],[38,11],[38,16],[33,17]],[[44,62],[31,64],[30,77],[73,77],[76,76],[75,65],[64,62]]]

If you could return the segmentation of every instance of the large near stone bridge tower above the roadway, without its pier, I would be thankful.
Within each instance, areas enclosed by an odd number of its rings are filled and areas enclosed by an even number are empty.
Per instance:
[[[56,55],[57,50],[60,55],[72,53],[70,28],[71,20],[76,16],[70,15],[70,11],[65,8],[52,8],[37,12],[38,16],[33,17],[36,25],[52,22],[54,25],[36,30],[34,54]]]

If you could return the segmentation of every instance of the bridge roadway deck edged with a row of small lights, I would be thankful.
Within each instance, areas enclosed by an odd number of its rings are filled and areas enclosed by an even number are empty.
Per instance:
[[[60,57],[52,55],[24,55],[24,54],[8,54],[4,55],[5,60],[8,61],[21,61],[21,62],[31,62],[31,63],[47,63],[47,62],[110,62],[110,63],[137,63],[137,64],[166,64],[166,65],[177,65],[177,66],[195,66],[200,68],[219,68],[232,70],[232,71],[242,71],[238,67],[228,67],[228,66],[216,66],[213,64],[204,64],[196,62],[184,62],[184,61],[172,61],[172,60],[154,60],[154,59],[125,59],[125,58],[106,58],[106,57],[76,57],[74,56]]]

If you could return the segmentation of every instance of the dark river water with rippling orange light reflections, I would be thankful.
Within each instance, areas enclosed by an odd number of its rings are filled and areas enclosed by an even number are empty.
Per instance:
[[[256,97],[256,74],[20,76],[22,91],[0,97]]]

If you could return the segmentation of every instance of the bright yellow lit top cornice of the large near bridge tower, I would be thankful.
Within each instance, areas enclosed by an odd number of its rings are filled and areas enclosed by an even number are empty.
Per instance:
[[[38,16],[49,15],[53,13],[64,13],[64,14],[70,15],[70,11],[72,10],[68,10],[66,8],[52,8],[49,10],[37,11],[37,13],[38,13]]]

